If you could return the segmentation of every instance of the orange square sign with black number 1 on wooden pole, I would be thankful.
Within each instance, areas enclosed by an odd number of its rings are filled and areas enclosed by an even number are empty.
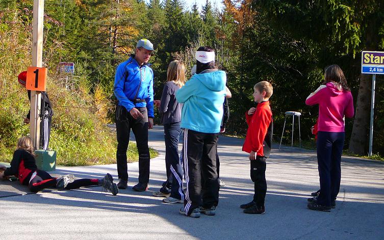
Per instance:
[[[32,91],[45,92],[46,79],[46,68],[28,67],[25,88]]]

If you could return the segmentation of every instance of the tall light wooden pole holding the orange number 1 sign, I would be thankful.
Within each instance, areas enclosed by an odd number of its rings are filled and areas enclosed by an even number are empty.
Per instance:
[[[44,0],[33,1],[32,67],[42,67]],[[41,92],[31,91],[30,137],[35,149],[40,149]]]

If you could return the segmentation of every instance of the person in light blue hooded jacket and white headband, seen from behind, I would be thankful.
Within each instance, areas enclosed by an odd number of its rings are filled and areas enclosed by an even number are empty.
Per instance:
[[[181,127],[184,128],[183,160],[187,182],[180,214],[198,218],[200,212],[215,215],[219,202],[216,152],[226,75],[215,69],[215,52],[211,47],[199,47],[195,58],[196,74],[177,91],[176,100],[184,103]]]

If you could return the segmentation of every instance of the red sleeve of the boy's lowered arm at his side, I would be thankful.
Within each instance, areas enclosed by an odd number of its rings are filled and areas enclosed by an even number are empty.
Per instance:
[[[263,141],[271,123],[272,115],[263,107],[256,108],[253,115],[250,140],[252,151],[257,153],[263,147]]]

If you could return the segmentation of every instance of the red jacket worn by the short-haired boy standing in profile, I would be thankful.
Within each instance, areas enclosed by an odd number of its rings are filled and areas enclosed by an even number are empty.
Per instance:
[[[243,151],[255,152],[257,156],[269,158],[272,146],[273,120],[269,101],[261,102],[252,115],[245,112],[248,124]]]

